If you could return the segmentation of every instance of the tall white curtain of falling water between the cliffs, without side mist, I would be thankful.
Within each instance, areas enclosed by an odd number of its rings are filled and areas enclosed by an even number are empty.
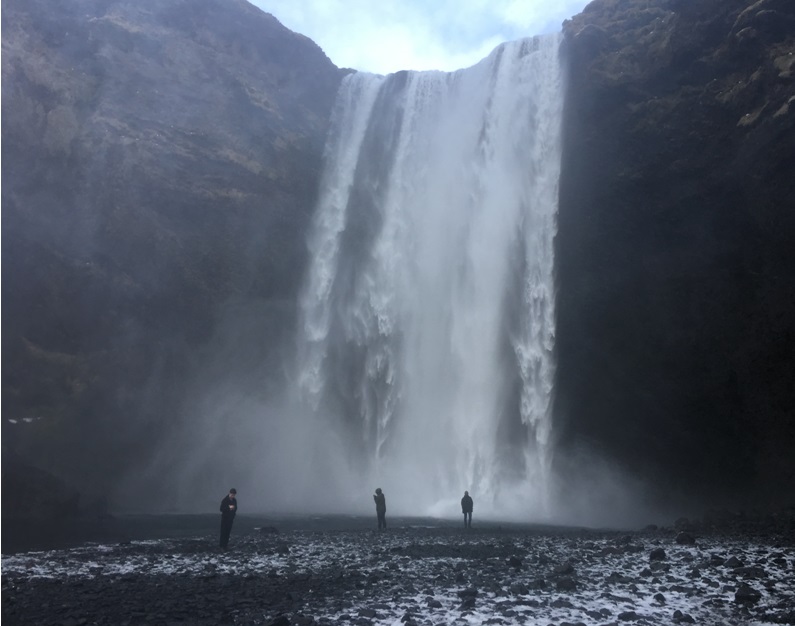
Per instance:
[[[338,96],[300,390],[361,488],[406,513],[454,513],[468,489],[495,514],[543,516],[559,42],[508,43],[453,73],[351,74]]]

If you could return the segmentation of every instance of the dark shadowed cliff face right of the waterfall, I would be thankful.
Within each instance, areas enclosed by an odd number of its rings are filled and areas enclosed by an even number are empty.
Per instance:
[[[570,65],[557,408],[667,495],[795,487],[795,4],[596,0]]]

